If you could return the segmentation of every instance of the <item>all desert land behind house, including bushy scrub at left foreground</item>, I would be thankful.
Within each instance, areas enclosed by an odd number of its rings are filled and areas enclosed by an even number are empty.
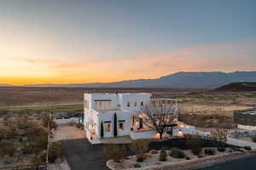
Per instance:
[[[47,144],[49,112],[83,111],[83,94],[139,93],[178,99],[179,117],[201,128],[236,128],[232,111],[256,106],[256,94],[158,88],[0,88],[0,167],[40,163]],[[41,133],[40,136],[32,135]],[[43,151],[42,151],[43,150]],[[44,157],[44,156],[43,156]]]

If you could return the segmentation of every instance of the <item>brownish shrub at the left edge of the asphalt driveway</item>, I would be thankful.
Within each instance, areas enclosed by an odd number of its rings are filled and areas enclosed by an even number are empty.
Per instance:
[[[60,142],[49,145],[49,162],[54,163],[57,158],[63,158],[63,150]]]

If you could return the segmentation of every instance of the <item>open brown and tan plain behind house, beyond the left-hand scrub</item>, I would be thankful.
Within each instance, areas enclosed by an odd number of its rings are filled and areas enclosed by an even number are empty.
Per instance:
[[[183,121],[197,127],[234,127],[232,113],[256,107],[256,92],[212,92],[158,88],[0,88],[0,111],[29,108],[32,112],[83,111],[83,94],[151,93],[154,98],[178,99]],[[0,112],[1,113],[1,112]],[[4,113],[4,112],[3,112]],[[192,115],[192,116],[191,116]],[[196,116],[196,118],[191,119]],[[223,122],[223,124],[219,124]],[[219,125],[219,126],[218,126]]]

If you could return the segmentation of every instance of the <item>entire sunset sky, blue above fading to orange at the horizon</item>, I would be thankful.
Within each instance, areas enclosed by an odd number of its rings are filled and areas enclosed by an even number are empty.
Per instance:
[[[0,84],[256,71],[255,0],[0,0]]]

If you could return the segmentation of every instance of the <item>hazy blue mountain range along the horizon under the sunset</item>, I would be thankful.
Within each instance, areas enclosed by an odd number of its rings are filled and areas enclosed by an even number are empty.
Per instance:
[[[256,82],[256,71],[177,72],[155,79],[79,84],[38,84],[26,87],[66,88],[218,88],[230,82]]]

